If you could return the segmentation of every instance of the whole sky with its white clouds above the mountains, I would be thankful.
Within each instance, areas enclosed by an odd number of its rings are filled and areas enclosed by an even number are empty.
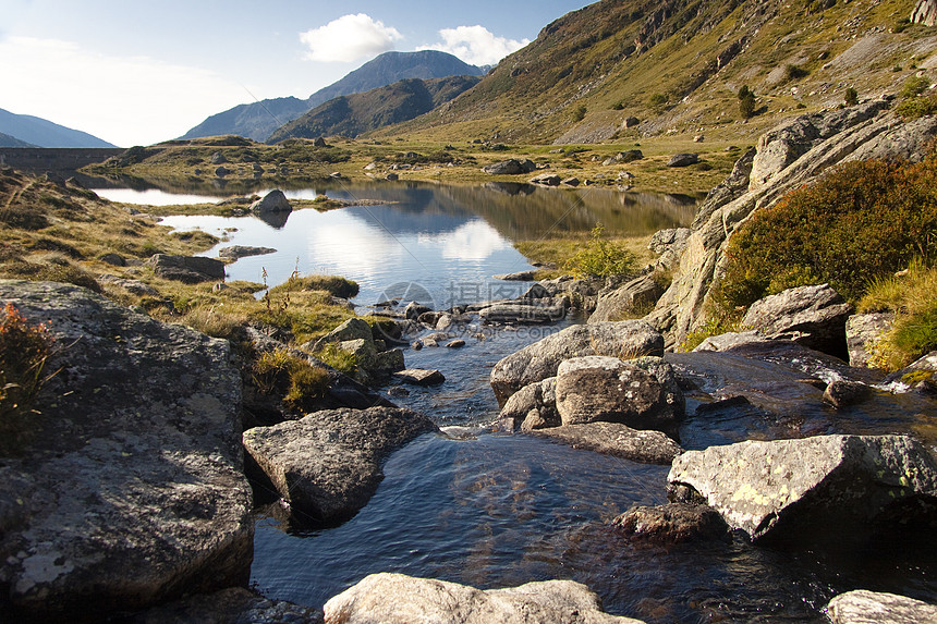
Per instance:
[[[589,0],[0,0],[0,108],[120,146],[308,97],[387,50],[494,64]]]

